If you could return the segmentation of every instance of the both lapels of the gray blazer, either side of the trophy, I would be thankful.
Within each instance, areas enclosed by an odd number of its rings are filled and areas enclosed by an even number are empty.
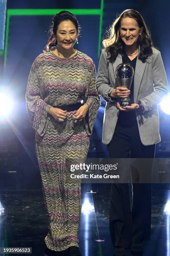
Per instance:
[[[122,63],[122,56],[120,54],[117,55],[115,62],[113,63],[113,71],[116,79],[115,70],[119,64]],[[138,93],[140,90],[140,85],[142,82],[143,74],[145,72],[146,63],[143,63],[140,59],[136,60],[135,74],[134,74],[134,102],[138,100]]]

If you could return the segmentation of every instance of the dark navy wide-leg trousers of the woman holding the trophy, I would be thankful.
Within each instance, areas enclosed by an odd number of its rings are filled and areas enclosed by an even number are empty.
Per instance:
[[[110,144],[110,158],[149,158],[147,166],[131,169],[133,181],[139,176],[150,179],[155,155],[155,144],[144,146],[140,141],[137,121],[117,123]],[[138,172],[140,170],[140,174]],[[148,180],[150,182],[150,180]],[[151,184],[133,183],[133,207],[130,207],[129,184],[112,184],[110,203],[110,236],[113,246],[130,248],[150,240]]]

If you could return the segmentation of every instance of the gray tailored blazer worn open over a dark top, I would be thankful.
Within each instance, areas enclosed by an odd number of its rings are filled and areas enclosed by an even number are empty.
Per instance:
[[[98,93],[106,100],[102,142],[109,144],[119,115],[116,108],[117,99],[110,97],[110,92],[115,88],[115,69],[122,63],[122,56],[119,54],[112,64],[107,59],[106,50],[102,50],[100,57],[97,90]],[[160,51],[153,48],[153,55],[145,63],[137,59],[134,75],[134,102],[140,100],[144,107],[143,124],[138,120],[140,139],[143,145],[153,145],[160,141],[159,134],[159,115],[158,104],[168,93],[168,81],[163,65]]]

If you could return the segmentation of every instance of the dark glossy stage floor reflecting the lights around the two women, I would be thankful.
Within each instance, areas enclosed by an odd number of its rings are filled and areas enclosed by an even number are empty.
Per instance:
[[[39,176],[32,177],[30,189],[29,185],[23,189],[21,179],[16,187],[15,179],[11,179],[15,176],[8,175],[8,186],[5,180],[0,180],[0,247],[32,247],[32,256],[48,255],[44,244],[48,216]],[[82,256],[113,255],[109,235],[110,188],[110,184],[82,184],[79,232]],[[164,212],[168,200],[170,185],[153,184],[151,241],[145,243],[144,256],[170,255],[170,215]],[[127,256],[130,256],[130,251],[127,251]]]

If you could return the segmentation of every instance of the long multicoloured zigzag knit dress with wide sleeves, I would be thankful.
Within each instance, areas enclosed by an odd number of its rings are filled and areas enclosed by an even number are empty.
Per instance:
[[[60,58],[52,51],[40,54],[30,70],[26,92],[27,110],[35,130],[35,148],[42,177],[42,189],[50,217],[47,247],[63,251],[78,246],[81,215],[81,182],[69,179],[70,163],[84,162],[89,136],[95,122],[100,97],[95,87],[95,65],[77,51]],[[85,120],[74,123],[75,111],[66,120],[55,120],[52,105],[70,105],[83,100],[89,106]]]

